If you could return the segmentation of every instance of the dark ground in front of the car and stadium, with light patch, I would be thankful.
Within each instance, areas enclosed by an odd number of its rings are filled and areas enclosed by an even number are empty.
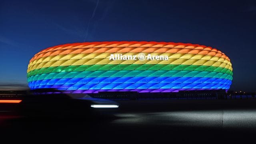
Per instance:
[[[15,142],[249,142],[256,136],[256,100],[118,101],[117,114],[26,118],[3,109],[1,140]]]

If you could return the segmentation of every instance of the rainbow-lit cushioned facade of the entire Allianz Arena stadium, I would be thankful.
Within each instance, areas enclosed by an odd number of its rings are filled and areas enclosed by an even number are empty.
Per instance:
[[[38,52],[28,64],[30,89],[73,93],[228,90],[232,64],[224,53],[174,42],[84,42]]]

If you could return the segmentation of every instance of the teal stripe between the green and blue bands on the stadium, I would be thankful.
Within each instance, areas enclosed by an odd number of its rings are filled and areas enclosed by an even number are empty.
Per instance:
[[[178,70],[121,70],[121,71],[83,71],[83,72],[52,72],[48,74],[36,74],[28,77],[28,82],[43,79],[54,78],[95,78],[95,77],[207,77],[207,78],[225,78],[232,80],[230,74],[221,72],[206,71],[178,71]]]

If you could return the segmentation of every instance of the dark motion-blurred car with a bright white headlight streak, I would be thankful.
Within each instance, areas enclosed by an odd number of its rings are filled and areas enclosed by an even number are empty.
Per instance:
[[[116,112],[119,104],[112,100],[96,99],[86,95],[72,98],[55,89],[30,90],[20,102],[20,113],[27,117],[89,118]]]

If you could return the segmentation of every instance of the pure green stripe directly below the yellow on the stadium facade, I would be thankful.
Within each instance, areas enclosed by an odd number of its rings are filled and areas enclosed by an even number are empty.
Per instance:
[[[82,72],[96,70],[186,70],[186,71],[207,71],[222,72],[233,76],[230,69],[216,66],[198,66],[198,65],[176,65],[176,64],[96,64],[81,66],[56,66],[48,68],[35,69],[28,72],[27,77],[36,74],[46,74],[52,72]]]

